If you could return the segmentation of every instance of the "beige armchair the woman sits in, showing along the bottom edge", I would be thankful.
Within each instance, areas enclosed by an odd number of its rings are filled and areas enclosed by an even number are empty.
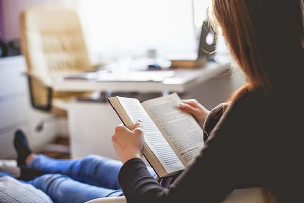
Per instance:
[[[223,203],[268,203],[262,188],[247,188],[234,190]],[[125,197],[107,197],[88,201],[87,203],[126,203]]]

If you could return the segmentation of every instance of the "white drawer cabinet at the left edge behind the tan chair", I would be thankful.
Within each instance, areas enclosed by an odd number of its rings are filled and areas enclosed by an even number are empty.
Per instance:
[[[0,58],[0,159],[15,158],[14,132],[22,129],[33,149],[41,148],[60,133],[59,122],[45,124],[40,133],[35,131],[37,123],[46,113],[32,109],[29,99],[23,56]]]

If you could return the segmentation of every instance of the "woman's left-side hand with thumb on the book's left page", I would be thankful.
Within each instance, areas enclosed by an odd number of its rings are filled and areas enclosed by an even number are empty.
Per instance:
[[[114,149],[122,163],[132,158],[142,159],[142,151],[144,145],[142,121],[135,123],[133,131],[123,125],[115,128],[115,134],[112,136]]]

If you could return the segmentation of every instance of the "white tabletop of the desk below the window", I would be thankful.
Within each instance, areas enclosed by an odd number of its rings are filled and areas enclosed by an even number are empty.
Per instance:
[[[176,70],[172,78],[161,82],[128,82],[128,81],[90,81],[90,80],[64,80],[59,78],[54,81],[55,91],[111,91],[111,92],[185,92],[216,75],[229,69],[229,64],[219,65],[208,63],[205,67],[192,70]]]

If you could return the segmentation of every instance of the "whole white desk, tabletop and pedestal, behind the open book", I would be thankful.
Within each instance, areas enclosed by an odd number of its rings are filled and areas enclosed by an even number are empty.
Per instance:
[[[176,75],[162,82],[96,82],[87,80],[58,80],[56,90],[86,91],[141,91],[190,93],[191,98],[202,97],[203,104],[214,106],[231,93],[223,90],[229,86],[230,76],[217,77],[229,70],[228,65],[210,64],[201,69],[176,70]],[[224,78],[225,80],[223,80]],[[213,80],[214,79],[214,80]],[[198,92],[192,92],[198,89]],[[214,95],[211,95],[213,93]],[[208,95],[208,96],[206,96]],[[217,96],[216,96],[217,95]],[[216,97],[220,97],[216,99]],[[68,107],[68,125],[73,158],[98,154],[118,158],[111,142],[115,126],[121,121],[108,103],[73,101]]]

